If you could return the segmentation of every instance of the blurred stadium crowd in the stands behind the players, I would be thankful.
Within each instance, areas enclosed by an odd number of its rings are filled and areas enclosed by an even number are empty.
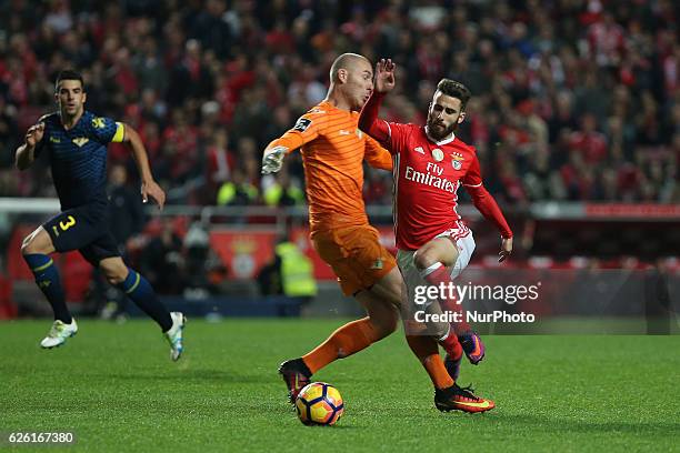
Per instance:
[[[89,110],[140,131],[171,203],[303,203],[300,160],[262,179],[261,152],[353,51],[397,62],[388,119],[422,123],[442,77],[470,88],[459,133],[506,204],[677,203],[679,18],[671,0],[8,0],[0,195],[53,195],[46,165],[20,173],[13,150],[70,67]],[[391,175],[370,171],[364,190],[390,203]]]

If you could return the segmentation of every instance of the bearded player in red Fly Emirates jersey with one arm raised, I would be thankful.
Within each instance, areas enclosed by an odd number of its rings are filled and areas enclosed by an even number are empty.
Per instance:
[[[468,89],[453,80],[441,80],[429,107],[427,124],[421,127],[378,119],[382,98],[393,88],[394,64],[391,60],[381,60],[376,68],[376,88],[361,112],[359,128],[392,154],[397,261],[409,289],[409,301],[414,301],[419,285],[449,285],[468,265],[474,250],[472,232],[456,212],[460,185],[501,232],[499,261],[512,251],[512,231],[482,184],[474,148],[454,134],[466,118]],[[460,305],[453,300],[434,302],[429,304],[434,305],[431,310],[438,310],[437,305],[441,304],[460,312]],[[446,365],[453,380],[459,373],[461,346],[471,363],[483,359],[484,346],[464,316],[457,323],[429,323],[428,328],[431,330],[427,333],[434,334],[447,351]],[[438,409],[461,409],[460,401],[447,397],[456,389],[460,390],[458,385],[447,389],[438,386],[437,382],[434,385]],[[471,393],[467,403],[477,405],[480,411],[493,407],[493,402]]]

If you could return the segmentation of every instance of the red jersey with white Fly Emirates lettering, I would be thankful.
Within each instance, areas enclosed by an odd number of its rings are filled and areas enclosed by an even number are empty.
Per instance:
[[[386,141],[394,175],[397,246],[417,250],[449,229],[468,228],[456,212],[458,188],[479,188],[482,180],[473,147],[456,135],[434,142],[424,127],[388,123]]]

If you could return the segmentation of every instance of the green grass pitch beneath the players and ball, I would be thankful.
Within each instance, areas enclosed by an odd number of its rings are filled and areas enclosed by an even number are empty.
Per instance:
[[[318,373],[346,413],[333,427],[303,426],[277,366],[341,323],[190,320],[172,363],[150,321],[82,320],[52,351],[38,346],[49,321],[3,322],[0,432],[70,431],[77,442],[63,451],[92,452],[680,449],[677,335],[486,336],[487,359],[464,363],[460,383],[497,407],[470,415],[434,409],[400,331]]]

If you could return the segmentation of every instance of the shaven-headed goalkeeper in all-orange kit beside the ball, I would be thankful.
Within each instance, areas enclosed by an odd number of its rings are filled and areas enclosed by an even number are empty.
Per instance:
[[[317,349],[281,364],[291,401],[310,378],[330,362],[363,350],[392,333],[399,320],[403,281],[394,258],[369,225],[363,204],[363,161],[391,170],[389,152],[357,127],[359,111],[373,89],[371,63],[346,53],[330,70],[327,98],[264,150],[262,173],[281,169],[283,157],[302,153],[310,238],[331,265],[346,295],[353,295],[368,316],[350,322]]]

